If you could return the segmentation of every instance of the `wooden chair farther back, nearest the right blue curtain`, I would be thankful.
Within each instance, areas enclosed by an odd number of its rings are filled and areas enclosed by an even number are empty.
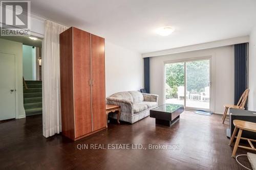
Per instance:
[[[248,94],[249,94],[249,89],[247,88],[247,89],[243,92],[243,94],[241,95],[241,98],[239,99],[237,105],[224,105],[225,111],[224,111],[224,114],[223,114],[223,116],[222,116],[222,124],[224,124],[224,122],[225,122],[228,109],[230,109],[230,108],[244,109],[245,103],[246,103],[247,98],[248,98]]]

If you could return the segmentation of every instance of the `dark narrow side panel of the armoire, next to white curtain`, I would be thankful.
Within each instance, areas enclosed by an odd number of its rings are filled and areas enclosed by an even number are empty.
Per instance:
[[[62,134],[75,138],[73,101],[72,28],[59,35],[60,43],[60,96]]]

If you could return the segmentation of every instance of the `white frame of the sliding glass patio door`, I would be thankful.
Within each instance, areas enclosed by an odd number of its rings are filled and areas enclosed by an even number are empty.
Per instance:
[[[180,63],[184,62],[184,109],[185,110],[206,110],[206,111],[215,111],[215,55],[208,55],[203,57],[195,57],[195,58],[184,58],[184,59],[178,59],[178,60],[168,60],[163,62],[163,103],[165,103],[165,64],[172,64],[172,63]],[[209,100],[209,109],[203,109],[203,108],[192,108],[192,107],[185,107],[186,106],[186,62],[189,61],[200,61],[200,60],[209,60],[209,76],[210,76],[210,100]]]

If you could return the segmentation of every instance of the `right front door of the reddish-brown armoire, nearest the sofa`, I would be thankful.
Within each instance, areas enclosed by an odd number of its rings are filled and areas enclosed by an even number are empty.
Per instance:
[[[93,131],[106,127],[105,40],[91,34]]]

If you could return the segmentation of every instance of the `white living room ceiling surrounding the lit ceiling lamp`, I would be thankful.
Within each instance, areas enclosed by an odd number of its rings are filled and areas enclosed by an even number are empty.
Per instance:
[[[32,0],[31,12],[139,53],[249,35],[255,0]],[[167,37],[155,29],[172,26]]]

